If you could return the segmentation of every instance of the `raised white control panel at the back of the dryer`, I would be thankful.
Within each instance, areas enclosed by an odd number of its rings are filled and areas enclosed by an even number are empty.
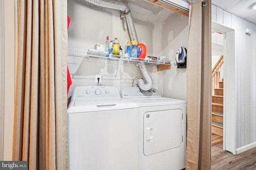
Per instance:
[[[139,87],[127,87],[121,92],[122,98],[147,98],[147,97],[161,97],[160,92],[156,88],[144,91]]]

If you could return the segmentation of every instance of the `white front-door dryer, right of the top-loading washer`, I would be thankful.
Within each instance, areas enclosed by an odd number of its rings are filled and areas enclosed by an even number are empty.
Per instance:
[[[139,109],[139,169],[180,170],[186,159],[186,101],[161,97],[152,88],[124,88],[122,98]]]

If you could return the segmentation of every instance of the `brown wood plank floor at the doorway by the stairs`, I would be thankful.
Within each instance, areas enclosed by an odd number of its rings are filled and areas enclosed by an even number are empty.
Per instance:
[[[233,155],[223,149],[223,138],[212,133],[211,170],[256,170],[256,148]]]

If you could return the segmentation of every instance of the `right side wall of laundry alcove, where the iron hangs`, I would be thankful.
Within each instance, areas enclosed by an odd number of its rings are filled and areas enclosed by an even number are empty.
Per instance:
[[[166,46],[162,55],[170,57],[175,62],[176,51],[180,46],[188,47],[188,18],[175,13],[166,20],[164,26],[162,41]],[[164,97],[186,100],[186,68],[177,68],[173,64],[170,70],[163,71],[162,74]]]

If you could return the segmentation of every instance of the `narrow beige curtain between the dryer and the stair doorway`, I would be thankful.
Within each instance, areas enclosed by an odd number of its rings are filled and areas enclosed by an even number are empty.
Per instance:
[[[202,7],[204,2],[207,4]],[[190,3],[186,170],[210,170],[211,0],[190,0]]]

